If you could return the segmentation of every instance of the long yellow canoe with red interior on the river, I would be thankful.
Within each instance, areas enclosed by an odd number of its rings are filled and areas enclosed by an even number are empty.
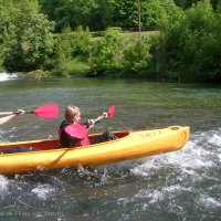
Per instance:
[[[1,148],[25,146],[40,151],[0,155],[0,173],[22,173],[42,169],[76,166],[99,166],[181,149],[189,139],[190,128],[170,126],[141,131],[115,131],[116,140],[85,147],[60,148],[57,139],[1,144]],[[90,135],[90,139],[98,134]]]

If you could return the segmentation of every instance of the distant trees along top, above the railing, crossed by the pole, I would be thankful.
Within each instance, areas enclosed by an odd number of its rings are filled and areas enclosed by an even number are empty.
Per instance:
[[[143,27],[157,27],[162,17],[172,13],[172,0],[141,0]],[[105,30],[108,27],[137,28],[138,1],[127,0],[40,0],[42,12],[55,21],[55,30],[66,27],[88,27],[90,30]]]

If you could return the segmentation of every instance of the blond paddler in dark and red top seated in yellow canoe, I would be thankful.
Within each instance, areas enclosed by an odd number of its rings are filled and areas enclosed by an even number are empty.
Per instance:
[[[103,116],[107,117],[107,113],[104,112]],[[61,147],[88,146],[90,144],[98,144],[117,138],[112,133],[105,131],[101,136],[90,140],[88,130],[94,127],[95,120],[82,120],[81,110],[76,106],[67,106],[64,110],[64,118],[57,131]]]

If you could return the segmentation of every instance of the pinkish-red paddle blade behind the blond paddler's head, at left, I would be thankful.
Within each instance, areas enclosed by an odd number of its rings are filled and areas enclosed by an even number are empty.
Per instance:
[[[46,104],[34,109],[34,114],[42,118],[56,118],[59,116],[59,106]]]

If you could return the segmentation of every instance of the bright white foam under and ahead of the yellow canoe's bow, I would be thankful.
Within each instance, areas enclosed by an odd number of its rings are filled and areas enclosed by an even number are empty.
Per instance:
[[[221,133],[207,131],[192,135],[187,145],[178,151],[140,159],[138,166],[130,169],[135,175],[148,176],[152,170],[173,167],[196,176],[196,169],[212,168],[221,160]],[[137,161],[138,162],[138,161]]]

